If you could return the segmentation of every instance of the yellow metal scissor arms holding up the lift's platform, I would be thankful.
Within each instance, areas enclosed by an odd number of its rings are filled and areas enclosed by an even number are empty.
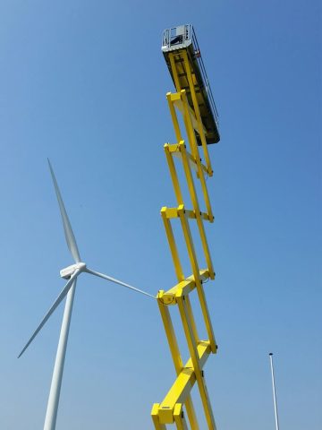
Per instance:
[[[180,73],[182,73],[181,68],[183,67],[182,62],[178,61],[178,58],[176,58],[177,61],[175,61],[175,53],[170,53],[169,58],[177,92],[168,92],[166,94],[166,99],[174,124],[176,142],[172,144],[166,143],[164,149],[170,176],[174,185],[177,206],[163,207],[161,209],[161,217],[174,261],[177,283],[173,288],[167,291],[162,290],[158,292],[157,304],[165,327],[165,334],[171,357],[174,362],[176,379],[166,394],[165,399],[160,404],[156,403],[153,406],[151,416],[156,430],[165,430],[167,425],[176,426],[177,430],[188,430],[188,428],[191,428],[191,430],[199,430],[198,420],[191,400],[191,390],[194,384],[197,383],[208,429],[216,430],[215,418],[213,416],[203,371],[203,367],[209,355],[216,353],[217,349],[203,286],[205,280],[215,279],[215,271],[204,227],[204,221],[214,221],[206,184],[206,176],[212,176],[213,172],[208,154],[205,128],[201,121],[197,95],[193,83],[194,76],[191,75],[190,60],[183,50],[180,59],[182,59],[184,63],[184,70],[187,74],[193,108],[191,108],[188,103],[186,91],[180,86]],[[182,115],[184,130],[183,127],[181,130],[182,122],[179,121],[178,114]],[[196,139],[196,132],[199,134],[201,141],[201,149],[205,159],[204,163],[200,158],[200,147]],[[187,149],[183,141],[183,136],[184,138],[185,136],[188,138],[187,143],[189,149]],[[174,158],[176,158],[176,161]],[[185,180],[186,186],[180,184],[182,178],[180,178],[176,168],[178,162],[182,164],[184,173],[183,180]],[[194,175],[193,172],[195,172],[196,175]],[[200,211],[199,196],[197,195],[195,181],[199,181],[200,183],[206,212]],[[192,208],[186,207],[184,203],[184,194],[187,193],[187,191],[190,195]],[[172,228],[172,221],[174,219],[178,219],[179,225],[182,228],[184,244],[191,264],[192,274],[189,277],[185,277],[182,269],[182,262]],[[196,249],[198,248],[194,245],[193,235],[191,234],[191,222],[197,223],[198,229],[196,231],[197,234],[199,234],[204,259],[207,264],[207,267],[203,269],[199,268],[199,258],[196,253]],[[193,293],[194,290],[196,290],[196,293]],[[197,294],[198,296],[208,340],[199,339],[197,324],[191,306],[190,294]],[[185,365],[182,363],[182,356],[175,335],[170,308],[168,307],[170,305],[173,306],[174,312],[177,311],[180,314],[184,336],[191,355]],[[188,421],[186,420],[185,413]]]

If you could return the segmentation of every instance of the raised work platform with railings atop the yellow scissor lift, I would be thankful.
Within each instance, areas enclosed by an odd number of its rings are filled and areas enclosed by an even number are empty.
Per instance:
[[[186,90],[188,103],[194,111],[196,108],[193,106],[191,83],[195,89],[207,144],[219,142],[216,104],[192,25],[164,30],[162,52],[176,90]],[[197,130],[196,133],[197,142],[201,146],[200,133]]]

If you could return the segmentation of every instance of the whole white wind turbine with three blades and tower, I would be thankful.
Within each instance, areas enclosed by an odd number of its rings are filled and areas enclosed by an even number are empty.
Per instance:
[[[49,159],[48,159],[48,165],[49,165],[51,176],[53,178],[55,194],[56,194],[57,201],[59,204],[59,209],[62,215],[62,220],[64,225],[64,235],[66,238],[68,248],[71,251],[71,254],[75,263],[60,271],[61,277],[68,281],[64,286],[64,288],[62,289],[59,296],[55,299],[54,304],[49,308],[47,314],[44,316],[41,323],[39,323],[37,329],[33,332],[32,336],[30,337],[30,340],[28,340],[24,348],[21,350],[21,353],[19,354],[18,358],[21,357],[21,355],[25,352],[25,350],[30,346],[30,343],[32,342],[32,340],[35,339],[35,337],[38,335],[38,332],[47,323],[47,320],[50,317],[50,315],[55,312],[55,308],[64,300],[64,297],[67,296],[66,304],[64,307],[63,323],[62,323],[62,328],[60,332],[57,353],[55,357],[55,366],[54,366],[54,372],[52,377],[52,383],[49,391],[47,413],[46,413],[45,425],[44,425],[44,430],[55,430],[59,396],[60,396],[60,390],[61,390],[62,379],[63,379],[64,359],[66,355],[68,333],[69,333],[71,317],[72,317],[72,304],[73,304],[73,298],[75,295],[76,281],[80,273],[86,272],[91,275],[98,276],[99,278],[103,278],[104,280],[109,280],[111,282],[114,282],[115,284],[121,285],[122,287],[130,288],[140,294],[144,294],[145,296],[152,297],[152,298],[156,298],[156,297],[152,296],[151,294],[148,294],[145,291],[142,291],[139,288],[134,288],[131,285],[124,283],[121,280],[115,280],[114,278],[111,278],[110,276],[107,276],[104,273],[100,273],[98,271],[92,271],[86,266],[85,262],[81,262],[80,252],[78,250],[75,236],[72,231],[71,222],[65,210],[62,195],[59,191],[57,181],[55,179],[55,173],[50,164]]]

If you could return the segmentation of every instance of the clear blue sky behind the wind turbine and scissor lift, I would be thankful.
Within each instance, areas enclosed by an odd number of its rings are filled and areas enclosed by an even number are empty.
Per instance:
[[[218,430],[274,428],[270,351],[281,429],[322,428],[319,2],[3,0],[3,430],[43,426],[62,305],[16,357],[72,263],[47,157],[83,260],[153,294],[174,286],[159,216],[175,202],[163,151],[174,86],[160,47],[162,30],[182,23],[195,26],[222,136],[210,147],[206,288]],[[83,275],[57,428],[152,429],[151,406],[173,381],[157,303]]]

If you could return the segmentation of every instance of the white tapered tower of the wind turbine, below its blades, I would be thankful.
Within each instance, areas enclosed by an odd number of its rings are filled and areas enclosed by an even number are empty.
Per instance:
[[[62,328],[59,336],[58,348],[55,357],[55,366],[53,378],[50,386],[49,398],[47,403],[47,412],[45,418],[44,430],[55,430],[59,395],[62,386],[64,359],[68,340],[68,332],[72,317],[72,303],[75,295],[76,279],[72,283],[72,288],[68,291],[66,304],[64,307],[64,317]]]

